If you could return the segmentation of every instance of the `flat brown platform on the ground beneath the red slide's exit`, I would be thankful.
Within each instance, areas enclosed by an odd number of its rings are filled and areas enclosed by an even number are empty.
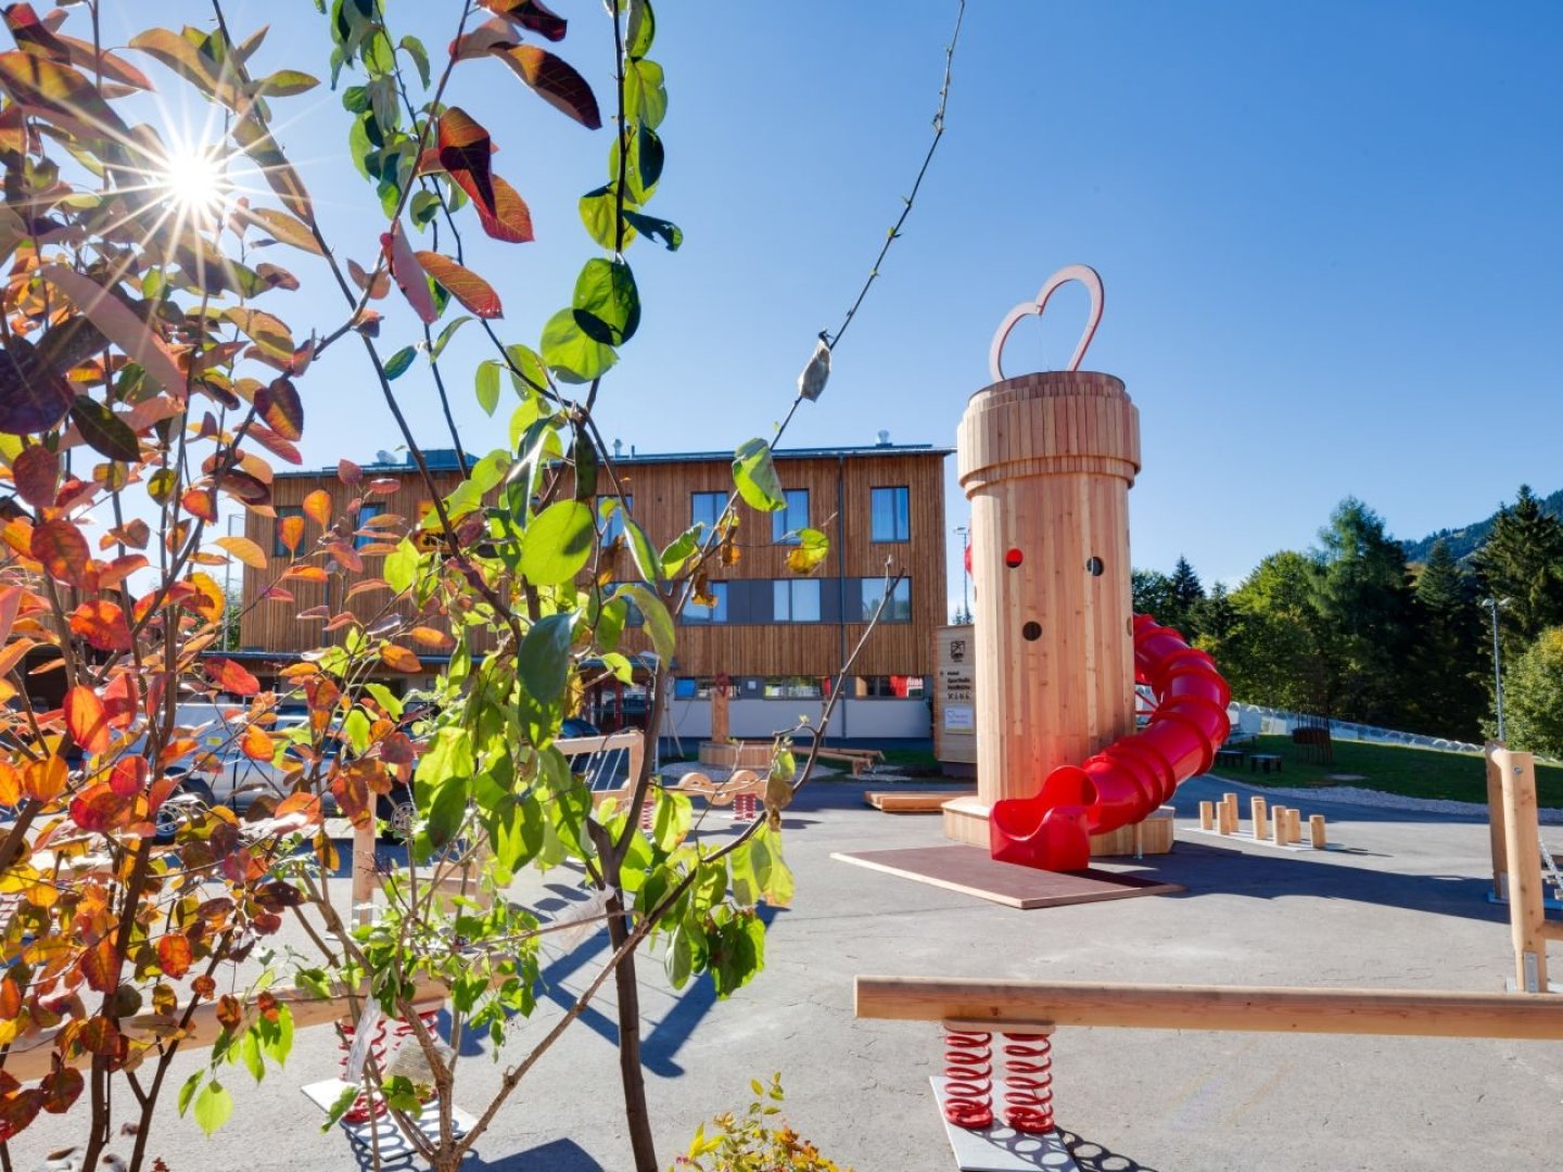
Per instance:
[[[1175,883],[1118,875],[1096,867],[1068,872],[1018,867],[1013,863],[996,863],[986,850],[966,845],[838,852],[832,858],[1021,909],[1183,891]]]

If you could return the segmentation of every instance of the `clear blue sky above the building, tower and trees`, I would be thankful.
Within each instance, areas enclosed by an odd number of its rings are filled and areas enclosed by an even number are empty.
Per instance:
[[[555,8],[572,17],[561,55],[606,97],[602,3]],[[170,11],[109,9],[106,36]],[[389,11],[438,52],[458,8]],[[325,77],[311,5],[227,13],[239,34],[275,25],[256,66]],[[630,250],[644,320],[605,383],[606,436],[652,452],[769,433],[900,211],[953,16],[952,0],[658,5],[671,108],[649,211],[686,244]],[[1563,486],[1560,53],[1552,3],[974,0],[907,234],[788,445],[872,442],[880,428],[953,445],[1002,316],[1082,261],[1107,286],[1085,364],[1122,377],[1141,411],[1136,566],[1171,569],[1182,553],[1207,581],[1235,583],[1261,556],[1310,545],[1346,494],[1418,538],[1485,516],[1522,481]],[[148,72],[178,105],[183,83]],[[505,341],[536,345],[594,255],[575,198],[603,180],[606,131],[567,122],[497,63],[463,63],[450,100],[489,127],[495,170],[531,205],[538,242],[469,261],[503,297]],[[336,102],[322,86],[277,106],[328,236],[367,263],[381,222]],[[481,239],[475,223],[467,239]],[[324,272],[277,259],[314,289],[270,294],[289,300],[267,308],[334,327]],[[1007,367],[1061,366],[1083,306],[1060,294],[1046,323],[1021,327]],[[383,353],[414,338],[391,305]],[[472,398],[478,341],[469,327],[445,369],[486,450],[505,428]],[[399,442],[359,364],[341,347],[305,380],[308,463]],[[439,445],[427,367],[395,386]],[[950,528],[966,516],[953,464]]]

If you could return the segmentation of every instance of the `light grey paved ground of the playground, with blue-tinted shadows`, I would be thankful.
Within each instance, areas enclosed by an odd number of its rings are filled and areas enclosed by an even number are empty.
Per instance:
[[[939,841],[936,817],[871,811],[863,788],[822,783],[788,811],[797,902],[774,916],[766,970],[749,988],[717,1003],[700,981],[675,999],[660,963],[642,963],[664,1167],[699,1122],[747,1105],[752,1077],[780,1070],[786,1119],[842,1166],[953,1169],[928,1089],[936,1027],[855,1020],[857,974],[1497,991],[1511,972],[1504,909],[1485,899],[1488,839],[1475,819],[1332,808],[1321,792],[1297,805],[1327,814],[1346,850],[1299,855],[1185,836],[1144,870],[1185,884],[1183,895],[1013,911],[828,859],[833,850]],[[1180,825],[1202,797],[1225,789],[1243,788],[1183,786]],[[556,870],[545,881],[552,889],[527,897],[558,913],[572,877]],[[567,1002],[603,955],[599,939],[555,964],[552,997]],[[558,1013],[545,1000],[506,1056]],[[611,1020],[602,1000],[570,1028],[467,1167],[630,1167]],[[456,1099],[478,1113],[500,1067],[481,1047],[466,1052],[474,1061],[460,1069]],[[336,1074],[336,1058],[331,1031],[308,1030],[288,1069],[258,1088],[242,1067],[227,1067],[238,1111],[211,1141],[178,1119],[170,1092],[152,1152],[170,1172],[355,1167],[345,1139],[320,1133],[320,1114],[299,1091]],[[181,1056],[170,1088],[199,1061]],[[1063,1030],[1053,1074],[1058,1122],[1088,1172],[1563,1166],[1563,1045],[1550,1042]],[[69,1119],[42,1117],[13,1142],[14,1166],[30,1172],[72,1139]]]

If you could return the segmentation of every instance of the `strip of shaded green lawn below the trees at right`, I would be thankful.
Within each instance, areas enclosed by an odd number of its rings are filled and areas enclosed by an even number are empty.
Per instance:
[[[1335,742],[1335,763],[1318,766],[1304,758],[1288,736],[1261,736],[1252,749],[1277,753],[1280,774],[1250,774],[1249,766],[1216,766],[1210,772],[1257,786],[1358,786],[1407,797],[1486,802],[1486,766],[1480,753],[1444,753],[1435,749]],[[1332,781],[1332,774],[1357,774],[1360,781]],[[1563,806],[1563,767],[1536,766],[1536,795],[1543,806]]]

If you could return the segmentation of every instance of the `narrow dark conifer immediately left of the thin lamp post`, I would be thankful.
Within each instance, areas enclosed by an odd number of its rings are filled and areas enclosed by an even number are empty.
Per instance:
[[[1415,686],[1408,692],[1408,730],[1475,741],[1488,709],[1490,652],[1475,580],[1461,569],[1449,542],[1438,539],[1416,578]]]

